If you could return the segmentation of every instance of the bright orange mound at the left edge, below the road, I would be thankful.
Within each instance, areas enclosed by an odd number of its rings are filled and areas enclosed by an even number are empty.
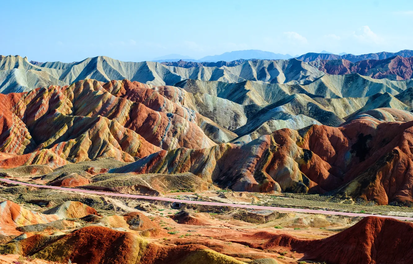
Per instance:
[[[0,203],[0,234],[2,235],[20,235],[21,232],[16,230],[17,227],[46,224],[59,219],[57,215],[29,211],[11,201]]]

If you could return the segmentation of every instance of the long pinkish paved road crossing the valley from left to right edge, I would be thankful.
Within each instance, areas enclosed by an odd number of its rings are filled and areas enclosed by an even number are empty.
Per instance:
[[[99,192],[93,190],[83,190],[83,189],[75,189],[75,188],[65,188],[65,187],[56,187],[56,186],[47,186],[47,185],[37,185],[31,184],[26,182],[17,182],[14,180],[0,178],[0,181],[25,185],[25,186],[32,186],[38,188],[48,188],[48,189],[55,189],[55,190],[62,190],[62,191],[69,191],[69,192],[83,192],[88,194],[99,194],[99,195],[108,195],[108,196],[119,196],[119,197],[129,197],[129,198],[139,198],[139,199],[148,199],[148,200],[158,200],[158,201],[167,201],[167,202],[179,202],[179,203],[187,203],[187,204],[205,204],[205,205],[213,205],[213,206],[231,206],[231,207],[241,207],[241,208],[248,208],[248,209],[260,209],[260,210],[276,210],[276,211],[292,211],[292,212],[302,212],[302,213],[312,213],[312,214],[330,214],[330,215],[341,215],[341,216],[371,216],[371,214],[356,214],[356,213],[346,213],[346,212],[335,212],[335,211],[322,211],[322,210],[312,210],[312,209],[299,209],[299,208],[286,208],[286,207],[275,207],[275,206],[261,206],[261,205],[247,205],[247,204],[226,204],[226,203],[219,203],[219,202],[203,202],[203,201],[190,201],[190,200],[180,200],[180,199],[173,199],[169,197],[156,197],[156,196],[145,196],[145,195],[135,195],[135,194],[122,194],[122,193],[114,193],[114,192]],[[394,218],[399,220],[411,220],[413,221],[413,217],[403,217],[403,216],[382,216],[382,215],[375,215],[378,217],[386,217],[386,218]]]

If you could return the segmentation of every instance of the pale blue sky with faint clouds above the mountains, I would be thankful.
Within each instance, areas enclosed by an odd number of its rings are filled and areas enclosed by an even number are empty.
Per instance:
[[[80,61],[413,49],[411,0],[1,0],[0,54]]]

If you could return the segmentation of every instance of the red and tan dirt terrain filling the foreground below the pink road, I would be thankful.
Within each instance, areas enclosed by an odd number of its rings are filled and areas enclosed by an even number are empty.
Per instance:
[[[171,192],[169,195],[193,194]],[[262,199],[258,194],[245,192],[209,191],[202,196],[245,203]],[[412,223],[374,216],[363,219],[228,206],[177,206],[169,202],[7,184],[2,184],[0,197],[5,199],[1,206],[1,225],[8,225],[1,230],[0,253],[63,263],[69,259],[75,263],[129,263],[124,259],[133,259],[131,263],[199,263],[199,257],[205,259],[205,263],[321,263],[327,260],[332,264],[354,263],[351,262],[354,258],[339,262],[321,253],[312,254],[313,251],[303,245],[311,241],[313,244],[309,245],[318,248],[326,238],[341,245],[354,239],[353,236],[358,238],[360,232],[369,235],[366,241],[380,239],[379,228],[394,225],[405,228],[406,234],[413,232]],[[353,229],[366,231],[350,231]],[[110,246],[114,241],[119,243],[119,248]],[[368,248],[362,248],[364,250],[357,253],[363,259],[360,263],[368,263],[364,262],[366,258],[375,259]],[[112,250],[120,253],[115,256],[109,253]],[[403,250],[408,252],[406,248]],[[10,256],[2,255],[0,259],[12,263],[9,259],[16,257]],[[402,257],[399,263],[408,263],[405,261]]]

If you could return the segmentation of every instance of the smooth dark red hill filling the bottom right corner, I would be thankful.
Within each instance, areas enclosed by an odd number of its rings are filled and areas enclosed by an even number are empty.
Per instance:
[[[328,238],[302,240],[281,234],[262,245],[249,246],[289,248],[304,253],[303,259],[329,264],[410,264],[413,259],[413,223],[369,216]]]

